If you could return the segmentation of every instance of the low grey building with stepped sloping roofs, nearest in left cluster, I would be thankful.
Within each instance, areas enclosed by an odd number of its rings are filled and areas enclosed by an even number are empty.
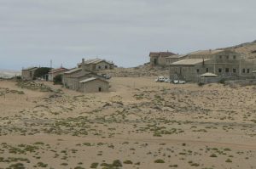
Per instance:
[[[95,79],[91,79],[95,78]],[[86,81],[90,79],[90,81]],[[96,84],[96,83],[99,84]],[[97,75],[95,72],[87,70],[84,59],[82,64],[78,68],[73,68],[64,73],[62,77],[62,83],[64,87],[70,88],[72,90],[81,92],[106,92],[108,91],[109,85],[108,81],[105,81],[103,76]],[[95,84],[95,87],[92,87]],[[90,89],[93,89],[90,91]],[[96,90],[97,89],[97,90]]]

